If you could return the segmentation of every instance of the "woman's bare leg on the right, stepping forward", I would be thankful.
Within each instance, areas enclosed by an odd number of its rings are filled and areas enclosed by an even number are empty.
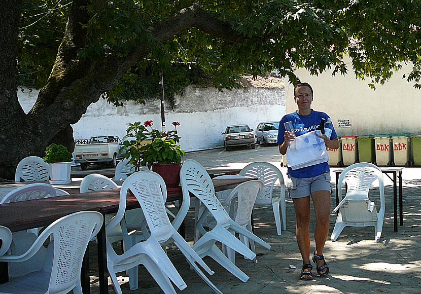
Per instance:
[[[322,255],[329,233],[330,191],[316,191],[311,193],[313,200],[316,226],[314,230],[315,254]],[[323,260],[317,260],[318,267],[323,266]],[[324,273],[326,269],[322,271]]]

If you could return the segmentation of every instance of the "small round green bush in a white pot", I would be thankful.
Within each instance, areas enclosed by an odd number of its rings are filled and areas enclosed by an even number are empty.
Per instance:
[[[45,157],[43,159],[50,164],[51,184],[66,184],[72,181],[70,179],[72,153],[65,146],[52,143],[45,149]]]

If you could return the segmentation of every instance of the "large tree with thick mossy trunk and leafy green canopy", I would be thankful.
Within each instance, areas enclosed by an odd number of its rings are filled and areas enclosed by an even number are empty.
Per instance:
[[[70,124],[89,104],[103,94],[119,104],[131,80],[160,70],[173,91],[189,75],[219,89],[271,70],[295,83],[295,67],[352,70],[374,87],[411,63],[404,78],[420,87],[419,0],[5,0],[0,12],[0,152],[14,155],[0,160],[0,177],[51,142],[73,150]],[[28,114],[18,84],[41,89]]]

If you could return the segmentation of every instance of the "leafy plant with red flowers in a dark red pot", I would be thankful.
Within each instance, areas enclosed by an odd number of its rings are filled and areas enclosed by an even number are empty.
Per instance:
[[[180,123],[173,122],[171,125],[174,129],[165,133],[154,129],[151,120],[143,124],[135,122],[127,125],[129,127],[123,139],[132,139],[124,140],[122,149],[126,151],[125,157],[130,158],[130,164],[134,165],[135,171],[147,166],[162,176],[167,187],[178,187],[181,158],[186,154],[180,149],[180,137],[176,130]]]

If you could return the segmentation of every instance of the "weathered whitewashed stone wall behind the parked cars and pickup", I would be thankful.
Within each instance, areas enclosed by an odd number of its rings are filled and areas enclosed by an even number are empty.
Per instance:
[[[18,91],[19,101],[27,113],[37,98],[38,92]],[[286,113],[284,89],[247,88],[218,92],[213,88],[188,87],[182,96],[176,96],[173,109],[166,105],[167,130],[171,123],[180,122],[177,127],[181,148],[195,151],[223,146],[221,132],[227,125],[248,124],[255,129],[261,121],[278,121]],[[104,99],[91,104],[81,120],[73,125],[75,139],[96,135],[126,134],[127,123],[152,120],[154,127],[161,129],[159,100],[148,101],[146,105],[132,101],[123,107],[115,107]]]

